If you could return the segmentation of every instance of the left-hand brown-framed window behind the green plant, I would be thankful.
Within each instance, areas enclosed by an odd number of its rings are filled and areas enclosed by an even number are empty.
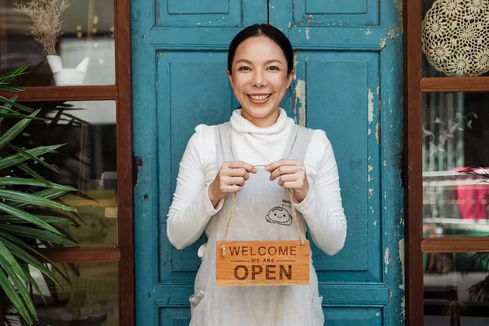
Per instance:
[[[71,282],[59,278],[62,293],[30,270],[47,301],[32,290],[40,325],[134,325],[130,0],[67,1],[49,53],[28,35],[33,20],[16,10],[16,3],[29,1],[0,0],[0,73],[30,63],[29,73],[15,81],[25,91],[15,95],[41,108],[48,124],[29,124],[17,145],[67,143],[46,157],[60,172],[43,173],[77,189],[61,198],[78,209],[73,225],[59,227],[81,244],[40,245]],[[3,297],[0,323],[17,325],[18,315]]]

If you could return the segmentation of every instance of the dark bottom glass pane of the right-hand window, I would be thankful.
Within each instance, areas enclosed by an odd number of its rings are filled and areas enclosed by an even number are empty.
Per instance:
[[[489,325],[489,253],[424,258],[424,325]]]

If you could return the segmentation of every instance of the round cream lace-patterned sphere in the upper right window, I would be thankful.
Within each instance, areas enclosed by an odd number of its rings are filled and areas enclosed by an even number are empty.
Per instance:
[[[436,0],[422,22],[422,51],[447,76],[489,71],[489,0]]]

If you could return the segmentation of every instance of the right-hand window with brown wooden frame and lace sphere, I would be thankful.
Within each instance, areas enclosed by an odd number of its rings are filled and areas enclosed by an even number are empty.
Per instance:
[[[404,3],[407,323],[485,325],[489,5]]]

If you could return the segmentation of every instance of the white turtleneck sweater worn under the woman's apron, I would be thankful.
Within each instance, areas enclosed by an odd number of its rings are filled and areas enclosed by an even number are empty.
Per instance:
[[[283,158],[295,124],[284,109],[280,109],[277,122],[270,127],[253,125],[241,115],[241,109],[233,112],[230,122],[232,146],[238,155],[235,158],[252,165],[266,165]],[[207,192],[220,168],[216,166],[215,128],[197,126],[180,161],[167,219],[168,239],[178,249],[199,239],[209,220],[222,208],[223,200],[214,208]],[[302,164],[306,168],[309,194],[295,207],[304,216],[313,242],[325,253],[334,255],[343,248],[347,223],[333,148],[323,130],[314,130]]]

